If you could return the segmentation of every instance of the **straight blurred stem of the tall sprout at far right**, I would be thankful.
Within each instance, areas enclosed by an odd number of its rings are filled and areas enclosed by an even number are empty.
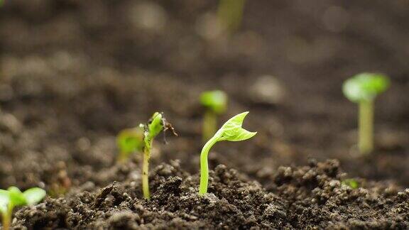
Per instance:
[[[359,103],[359,151],[363,154],[373,150],[373,102]]]

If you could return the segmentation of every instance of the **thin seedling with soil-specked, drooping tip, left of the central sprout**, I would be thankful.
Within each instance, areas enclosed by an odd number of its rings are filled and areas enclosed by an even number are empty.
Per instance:
[[[151,193],[149,192],[149,159],[151,159],[152,143],[153,139],[158,136],[158,134],[163,131],[165,133],[168,129],[172,131],[175,136],[173,126],[166,121],[162,113],[156,112],[153,114],[152,118],[148,121],[148,124],[141,124],[143,128],[143,165],[142,165],[142,191],[143,197],[146,199],[151,199]]]

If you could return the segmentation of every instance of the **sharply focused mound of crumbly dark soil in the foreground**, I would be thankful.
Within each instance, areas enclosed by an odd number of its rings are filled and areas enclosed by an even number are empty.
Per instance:
[[[131,168],[135,168],[134,166]],[[141,199],[140,182],[128,172],[124,182],[100,190],[86,184],[65,199],[48,198],[16,214],[16,228],[68,229],[407,229],[409,190],[342,184],[339,163],[311,161],[280,167],[274,186],[224,165],[211,172],[209,193],[197,195],[197,175],[176,161],[153,170],[150,201]]]

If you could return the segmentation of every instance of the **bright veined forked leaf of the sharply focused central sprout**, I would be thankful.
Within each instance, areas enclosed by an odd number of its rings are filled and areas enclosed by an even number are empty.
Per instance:
[[[217,131],[218,133],[221,132],[219,141],[244,141],[255,136],[257,132],[250,132],[244,128],[241,128],[247,114],[249,114],[248,111],[237,114],[229,119],[229,121],[227,121],[222,128]]]

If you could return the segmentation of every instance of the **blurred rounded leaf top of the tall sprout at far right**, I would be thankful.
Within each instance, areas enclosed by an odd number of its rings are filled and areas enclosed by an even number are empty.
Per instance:
[[[386,75],[361,73],[344,82],[342,91],[351,102],[372,101],[389,87]]]

